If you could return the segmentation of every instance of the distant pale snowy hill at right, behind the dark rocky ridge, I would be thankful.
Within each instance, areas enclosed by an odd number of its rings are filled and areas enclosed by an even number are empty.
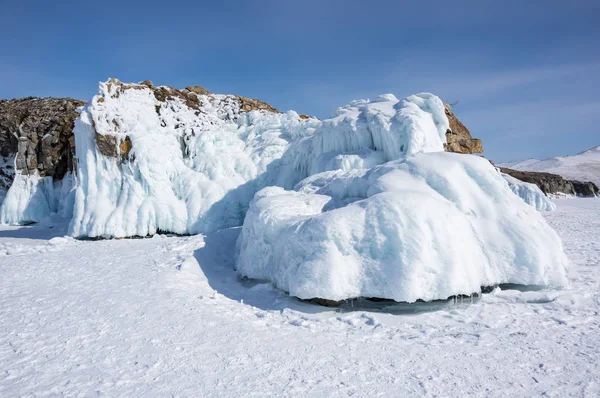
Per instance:
[[[500,164],[522,171],[541,171],[558,174],[569,180],[592,181],[600,185],[600,146],[573,156],[556,156],[544,160],[527,159]]]

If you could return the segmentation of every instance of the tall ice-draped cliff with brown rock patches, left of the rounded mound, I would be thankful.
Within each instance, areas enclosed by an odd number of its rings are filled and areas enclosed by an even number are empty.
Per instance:
[[[232,95],[171,90],[100,84],[75,123],[73,236],[241,225],[271,163],[319,123],[292,111],[244,112]]]

